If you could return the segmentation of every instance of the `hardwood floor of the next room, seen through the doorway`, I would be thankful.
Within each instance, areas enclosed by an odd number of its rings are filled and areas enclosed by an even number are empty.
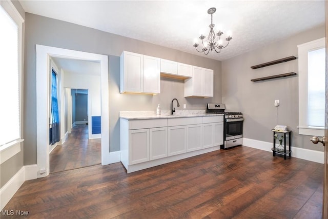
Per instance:
[[[88,125],[73,127],[63,145],[50,153],[50,173],[88,167],[101,163],[101,140],[89,139]]]

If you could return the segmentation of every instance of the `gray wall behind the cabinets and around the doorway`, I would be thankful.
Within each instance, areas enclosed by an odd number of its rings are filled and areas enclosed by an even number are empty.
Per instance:
[[[26,132],[24,165],[36,163],[36,44],[109,55],[111,152],[119,150],[120,110],[155,110],[157,104],[161,105],[162,110],[169,110],[173,98],[178,98],[181,106],[187,104],[188,110],[206,109],[206,103],[221,102],[221,62],[219,61],[30,13],[26,13],[26,27],[25,123],[29,126],[24,128]],[[214,97],[185,98],[183,82],[172,79],[161,80],[161,93],[156,96],[119,94],[119,56],[123,50],[213,69]]]

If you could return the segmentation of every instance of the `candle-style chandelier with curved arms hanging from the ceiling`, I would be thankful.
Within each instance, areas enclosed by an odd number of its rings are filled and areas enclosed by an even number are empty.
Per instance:
[[[226,48],[229,45],[229,42],[231,41],[232,37],[229,35],[226,38],[226,41],[228,41],[228,44],[226,46],[222,45],[222,40],[221,40],[221,35],[223,34],[223,32],[221,32],[219,30],[219,32],[217,34],[215,34],[213,28],[215,27],[215,24],[213,24],[213,14],[215,13],[216,8],[210,8],[207,13],[211,14],[211,24],[209,26],[210,28],[210,33],[209,36],[206,38],[206,36],[204,35],[200,35],[199,39],[201,39],[201,44],[203,45],[203,48],[199,51],[197,49],[197,47],[199,46],[199,44],[195,43],[193,45],[193,47],[195,47],[195,49],[197,50],[197,52],[203,52],[204,54],[209,54],[210,50],[220,53],[221,49]],[[217,37],[216,37],[217,36]]]

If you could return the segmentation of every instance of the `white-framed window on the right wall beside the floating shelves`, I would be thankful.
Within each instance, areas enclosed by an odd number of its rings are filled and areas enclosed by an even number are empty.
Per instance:
[[[324,38],[298,46],[299,134],[324,135],[324,46]]]

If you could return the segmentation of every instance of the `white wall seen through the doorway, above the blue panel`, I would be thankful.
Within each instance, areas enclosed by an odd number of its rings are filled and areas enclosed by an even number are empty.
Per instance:
[[[85,75],[71,72],[65,73],[65,88],[87,89],[88,90],[88,108],[89,108],[89,138],[100,138],[100,134],[91,134],[91,116],[101,115],[100,99],[100,66],[99,75]]]

